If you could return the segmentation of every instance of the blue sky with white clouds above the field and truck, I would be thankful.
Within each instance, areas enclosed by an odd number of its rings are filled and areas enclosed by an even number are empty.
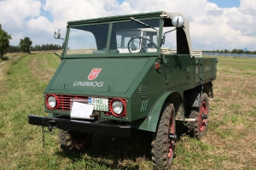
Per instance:
[[[54,31],[65,37],[67,21],[160,10],[189,20],[194,49],[256,51],[256,0],[0,0],[0,24],[11,45],[61,45]]]

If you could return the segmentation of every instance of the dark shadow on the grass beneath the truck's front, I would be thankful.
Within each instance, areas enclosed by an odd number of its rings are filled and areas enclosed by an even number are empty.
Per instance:
[[[77,161],[88,157],[110,168],[139,169],[138,161],[151,161],[152,133],[133,130],[130,138],[110,138],[94,135],[88,150],[73,150],[68,153],[56,152],[57,155]]]

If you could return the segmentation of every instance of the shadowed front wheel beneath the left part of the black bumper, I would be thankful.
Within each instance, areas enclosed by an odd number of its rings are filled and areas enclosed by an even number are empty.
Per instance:
[[[92,134],[90,133],[69,132],[62,129],[59,129],[58,136],[61,149],[64,151],[73,150],[74,148],[78,150],[89,148],[92,139]]]

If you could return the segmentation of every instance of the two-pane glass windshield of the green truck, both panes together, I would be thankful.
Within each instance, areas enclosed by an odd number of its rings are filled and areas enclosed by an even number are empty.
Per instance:
[[[158,48],[160,20],[140,20],[149,28],[134,20],[109,24],[73,26],[69,31],[67,54],[125,54],[155,53]],[[110,36],[109,45],[108,36]],[[108,48],[109,47],[109,48]]]

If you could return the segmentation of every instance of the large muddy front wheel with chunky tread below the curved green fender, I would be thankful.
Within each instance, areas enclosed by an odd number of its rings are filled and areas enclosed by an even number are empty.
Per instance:
[[[172,167],[175,138],[171,139],[170,135],[175,136],[175,124],[174,106],[172,104],[166,105],[151,143],[152,161],[157,169],[170,169]]]

